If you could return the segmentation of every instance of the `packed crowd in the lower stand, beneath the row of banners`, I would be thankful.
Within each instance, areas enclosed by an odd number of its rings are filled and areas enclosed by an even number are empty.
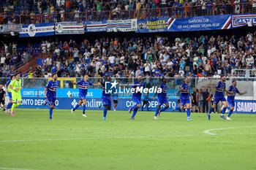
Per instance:
[[[39,44],[42,57],[29,77],[230,77],[232,69],[256,69],[256,32],[246,36],[200,36],[169,39],[143,37],[132,39],[101,38],[90,42],[44,41]],[[28,62],[15,43],[1,47],[1,77],[15,72],[15,63]],[[31,47],[29,47],[30,49]],[[254,77],[255,72],[252,72]],[[238,76],[244,77],[244,72]]]

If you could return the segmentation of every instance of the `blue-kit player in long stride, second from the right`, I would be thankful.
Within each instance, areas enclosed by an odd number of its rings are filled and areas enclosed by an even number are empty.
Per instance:
[[[209,112],[207,113],[208,120],[211,120],[210,114],[213,111],[213,109],[217,106],[219,101],[222,101],[222,104],[224,105],[222,109],[222,115],[220,115],[220,117],[222,117],[223,119],[226,119],[224,116],[224,113],[226,112],[226,109],[227,109],[227,100],[223,92],[225,91],[226,93],[229,93],[229,94],[233,94],[233,92],[230,92],[229,90],[226,89],[225,81],[226,81],[226,77],[225,75],[222,75],[220,78],[220,81],[217,83],[217,85],[214,88],[214,92],[211,94],[211,97],[214,96],[214,104],[212,105],[212,107],[209,109]]]

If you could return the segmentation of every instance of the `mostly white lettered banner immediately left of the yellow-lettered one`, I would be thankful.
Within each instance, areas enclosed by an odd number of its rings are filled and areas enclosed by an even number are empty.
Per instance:
[[[108,32],[129,32],[137,31],[137,19],[132,20],[108,20],[107,23]]]

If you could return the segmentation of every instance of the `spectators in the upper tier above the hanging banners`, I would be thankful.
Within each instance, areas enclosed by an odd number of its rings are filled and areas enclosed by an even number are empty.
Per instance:
[[[113,19],[146,19],[158,17],[159,12],[173,18],[255,13],[256,0],[0,0],[1,23],[100,20],[110,14]]]

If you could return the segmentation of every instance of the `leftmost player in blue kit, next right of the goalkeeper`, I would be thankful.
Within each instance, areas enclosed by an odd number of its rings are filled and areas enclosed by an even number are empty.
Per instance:
[[[53,117],[52,117],[53,109],[55,109],[55,101],[57,98],[56,93],[57,93],[57,88],[59,86],[59,82],[57,82],[57,80],[58,80],[58,75],[54,73],[53,80],[50,80],[50,82],[48,82],[45,87],[45,98],[47,98],[46,100],[50,104],[50,110],[49,110],[50,120],[53,120]]]

